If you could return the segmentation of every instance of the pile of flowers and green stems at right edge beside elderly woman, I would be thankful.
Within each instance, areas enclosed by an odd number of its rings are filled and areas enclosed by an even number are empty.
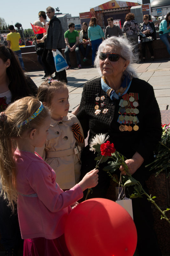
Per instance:
[[[150,170],[156,170],[155,176],[162,171],[166,171],[167,178],[170,176],[170,123],[162,125],[162,137],[155,151],[155,160],[147,166],[151,166]]]

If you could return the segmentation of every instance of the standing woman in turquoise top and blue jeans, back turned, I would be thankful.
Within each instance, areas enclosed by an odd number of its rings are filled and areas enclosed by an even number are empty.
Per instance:
[[[97,25],[96,17],[92,17],[88,27],[89,44],[92,46],[92,64],[100,43],[104,40],[103,30]]]

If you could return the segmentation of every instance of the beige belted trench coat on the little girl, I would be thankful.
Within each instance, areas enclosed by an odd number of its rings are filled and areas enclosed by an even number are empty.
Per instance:
[[[61,189],[70,189],[79,182],[81,168],[81,149],[84,143],[78,143],[74,137],[71,126],[78,123],[80,132],[84,138],[83,129],[77,117],[68,113],[62,120],[51,119],[49,134],[42,148],[36,148],[36,152],[56,172],[56,182]],[[75,151],[79,152],[75,154]],[[76,147],[76,150],[74,148]]]

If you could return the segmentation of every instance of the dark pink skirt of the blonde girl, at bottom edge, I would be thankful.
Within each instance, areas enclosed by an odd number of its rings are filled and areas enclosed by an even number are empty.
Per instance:
[[[64,234],[56,239],[37,237],[24,240],[23,256],[71,256]]]

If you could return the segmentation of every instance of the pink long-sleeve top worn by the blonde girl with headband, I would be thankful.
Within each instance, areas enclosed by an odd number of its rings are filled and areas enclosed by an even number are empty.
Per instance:
[[[83,197],[78,184],[63,192],[53,169],[39,156],[16,150],[18,219],[23,239],[64,234],[70,205]]]

